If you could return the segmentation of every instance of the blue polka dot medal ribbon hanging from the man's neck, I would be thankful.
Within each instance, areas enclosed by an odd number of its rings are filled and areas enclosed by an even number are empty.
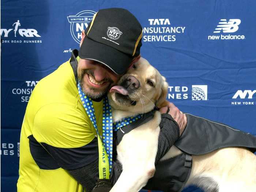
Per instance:
[[[99,131],[96,123],[95,111],[93,108],[93,102],[90,97],[86,96],[83,93],[80,83],[78,83],[78,93],[83,103],[84,109],[86,110],[86,113],[90,118],[91,123],[94,125],[94,128],[99,135]],[[102,143],[108,155],[109,174],[110,174],[112,170],[113,124],[112,124],[111,106],[108,103],[108,97],[105,97],[103,99]]]

